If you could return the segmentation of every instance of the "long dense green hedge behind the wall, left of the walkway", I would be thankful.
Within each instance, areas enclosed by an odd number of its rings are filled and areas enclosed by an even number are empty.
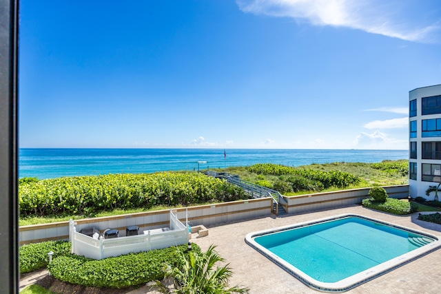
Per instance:
[[[201,173],[110,174],[23,182],[21,216],[84,214],[247,199],[243,189]]]

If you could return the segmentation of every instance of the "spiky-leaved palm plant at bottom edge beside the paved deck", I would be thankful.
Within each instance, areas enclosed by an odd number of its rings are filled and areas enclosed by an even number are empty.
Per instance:
[[[161,293],[176,294],[228,294],[228,293],[249,293],[248,288],[240,286],[228,287],[228,280],[232,277],[229,264],[216,266],[216,262],[223,262],[224,259],[211,245],[207,252],[190,252],[187,256],[179,251],[181,255],[180,265],[173,267],[167,264],[164,268],[165,279],[173,280],[174,288],[168,288],[163,282],[152,282],[153,288]]]

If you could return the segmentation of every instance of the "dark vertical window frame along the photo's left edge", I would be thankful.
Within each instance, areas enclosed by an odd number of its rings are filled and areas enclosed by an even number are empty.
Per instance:
[[[0,293],[19,292],[18,0],[0,0]]]

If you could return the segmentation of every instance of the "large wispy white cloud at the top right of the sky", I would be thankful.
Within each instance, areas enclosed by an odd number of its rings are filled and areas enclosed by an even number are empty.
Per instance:
[[[401,0],[236,0],[236,3],[243,12],[291,17],[313,25],[358,29],[407,41],[436,41],[433,34],[440,30],[440,21],[426,25],[410,23],[412,7],[408,3],[405,6]],[[418,1],[411,4],[418,5]]]

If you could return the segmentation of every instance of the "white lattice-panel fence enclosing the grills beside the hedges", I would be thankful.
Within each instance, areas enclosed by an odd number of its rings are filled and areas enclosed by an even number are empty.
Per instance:
[[[137,253],[187,244],[189,235],[187,225],[184,225],[178,220],[176,214],[172,211],[170,211],[169,227],[146,230],[143,231],[141,235],[119,238],[95,239],[77,232],[73,220],[70,220],[69,225],[72,253],[84,255],[87,258],[94,258],[96,260],[127,253]]]

